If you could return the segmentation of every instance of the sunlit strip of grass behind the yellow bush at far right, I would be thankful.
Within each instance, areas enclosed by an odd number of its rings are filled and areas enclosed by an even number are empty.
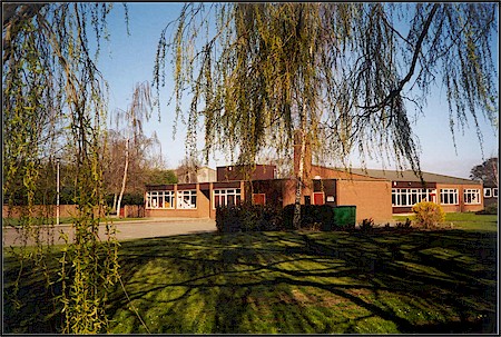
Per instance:
[[[405,219],[414,219],[414,216],[394,216],[393,219],[404,222]],[[448,212],[445,214],[445,221],[443,226],[450,227],[453,224],[453,228],[464,230],[498,230],[498,216],[497,215],[475,215],[474,212]]]

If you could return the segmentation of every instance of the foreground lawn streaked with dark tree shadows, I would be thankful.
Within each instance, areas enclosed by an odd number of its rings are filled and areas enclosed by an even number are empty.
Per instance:
[[[117,287],[111,333],[495,333],[497,247],[497,231],[460,229],[124,241],[131,303]],[[35,271],[20,289],[24,304],[12,306],[13,264],[6,258],[4,333],[56,333],[61,318]]]

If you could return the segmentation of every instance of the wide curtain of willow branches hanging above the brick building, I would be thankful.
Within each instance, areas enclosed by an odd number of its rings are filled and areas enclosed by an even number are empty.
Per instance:
[[[170,53],[176,113],[188,117],[190,152],[204,122],[206,159],[223,150],[248,163],[264,148],[291,151],[305,120],[314,151],[343,160],[356,150],[363,160],[386,157],[420,172],[409,102],[422,110],[438,81],[448,89],[453,137],[466,110],[481,147],[478,118],[498,122],[495,10],[494,3],[189,3],[163,31],[154,83],[163,85]],[[181,113],[186,92],[191,103]]]

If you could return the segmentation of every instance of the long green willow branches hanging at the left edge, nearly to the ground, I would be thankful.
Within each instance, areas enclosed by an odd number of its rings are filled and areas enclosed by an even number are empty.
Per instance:
[[[39,229],[48,219],[38,222],[33,210],[38,178],[43,175],[41,162],[47,160],[43,156],[53,158],[56,149],[70,150],[78,207],[72,219],[75,239],[63,248],[58,275],[49,277],[50,283],[62,285],[66,325],[61,331],[104,333],[107,294],[118,276],[118,242],[109,224],[106,236],[99,237],[105,220],[100,140],[107,109],[105,82],[94,59],[106,36],[111,6],[8,3],[3,9],[3,194],[14,206],[19,200],[13,196],[22,184],[26,197],[21,195],[21,204],[27,210],[20,231],[27,238],[24,245],[31,239],[42,247]],[[98,46],[94,56],[89,32]],[[39,251],[40,260],[49,257]]]

